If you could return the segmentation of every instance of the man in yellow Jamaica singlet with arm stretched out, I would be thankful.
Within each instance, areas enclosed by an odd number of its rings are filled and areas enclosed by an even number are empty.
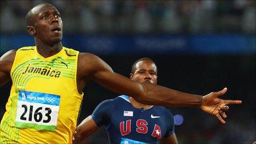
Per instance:
[[[221,108],[242,103],[218,98],[227,88],[202,96],[138,83],[113,72],[93,54],[63,47],[62,20],[51,4],[41,3],[31,9],[26,24],[35,46],[10,50],[0,59],[0,86],[12,80],[0,143],[72,143],[82,89],[90,79],[140,103],[198,107],[222,123],[225,115]]]

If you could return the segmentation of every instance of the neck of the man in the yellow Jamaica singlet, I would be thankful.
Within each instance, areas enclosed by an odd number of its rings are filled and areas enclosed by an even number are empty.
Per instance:
[[[36,42],[36,50],[38,51],[38,54],[40,54],[43,57],[50,57],[62,50],[62,44],[61,42],[58,42],[55,45],[49,45],[44,44],[42,42]]]

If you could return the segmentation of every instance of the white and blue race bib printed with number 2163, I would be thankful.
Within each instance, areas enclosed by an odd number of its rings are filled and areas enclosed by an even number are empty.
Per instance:
[[[55,131],[60,95],[19,90],[15,125],[20,128]]]

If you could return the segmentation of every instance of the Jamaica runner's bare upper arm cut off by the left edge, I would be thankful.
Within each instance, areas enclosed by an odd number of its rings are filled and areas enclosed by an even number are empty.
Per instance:
[[[10,70],[13,65],[16,50],[6,52],[0,58],[0,87],[10,80]]]

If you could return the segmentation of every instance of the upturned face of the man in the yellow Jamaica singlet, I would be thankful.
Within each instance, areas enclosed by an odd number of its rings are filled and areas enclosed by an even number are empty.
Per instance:
[[[58,10],[51,5],[34,9],[35,36],[47,44],[57,44],[62,40],[62,20]]]

